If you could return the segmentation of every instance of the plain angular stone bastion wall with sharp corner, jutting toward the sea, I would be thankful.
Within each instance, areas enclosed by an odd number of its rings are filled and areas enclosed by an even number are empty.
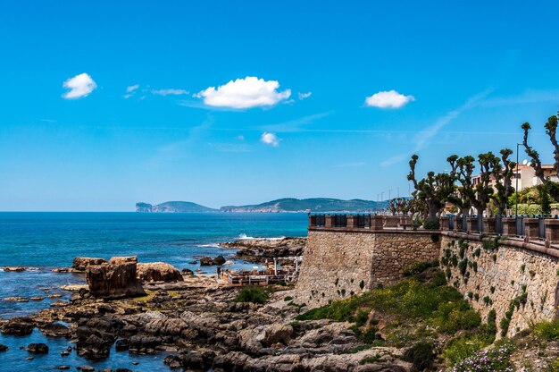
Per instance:
[[[413,263],[438,259],[435,240],[429,232],[310,230],[295,300],[316,308],[396,283]]]

